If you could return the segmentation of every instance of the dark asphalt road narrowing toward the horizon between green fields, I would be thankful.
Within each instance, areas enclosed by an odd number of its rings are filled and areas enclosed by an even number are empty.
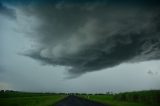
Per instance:
[[[68,96],[59,101],[55,106],[108,106],[94,101],[90,101],[77,96]]]

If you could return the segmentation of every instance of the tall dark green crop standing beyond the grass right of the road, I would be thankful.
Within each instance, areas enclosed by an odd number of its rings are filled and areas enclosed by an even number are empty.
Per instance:
[[[114,100],[160,106],[160,90],[119,93],[114,95]]]

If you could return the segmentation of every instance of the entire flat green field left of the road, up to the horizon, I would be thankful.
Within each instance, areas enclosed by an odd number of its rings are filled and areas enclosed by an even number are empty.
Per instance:
[[[49,93],[1,92],[0,106],[54,106],[64,97],[61,94]]]

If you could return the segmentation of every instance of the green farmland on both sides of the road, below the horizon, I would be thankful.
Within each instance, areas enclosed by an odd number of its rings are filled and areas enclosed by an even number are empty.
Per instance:
[[[91,101],[107,104],[107,106],[160,106],[160,90],[124,92],[118,94],[57,94],[1,91],[0,106],[54,106],[55,103],[68,95],[76,95]],[[75,98],[73,98],[73,100]]]

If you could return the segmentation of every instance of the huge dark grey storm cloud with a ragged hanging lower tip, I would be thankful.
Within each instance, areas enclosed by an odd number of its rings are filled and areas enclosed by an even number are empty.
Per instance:
[[[73,75],[160,59],[158,6],[58,3],[21,9],[39,21],[30,35],[39,45],[25,55],[69,66]]]

